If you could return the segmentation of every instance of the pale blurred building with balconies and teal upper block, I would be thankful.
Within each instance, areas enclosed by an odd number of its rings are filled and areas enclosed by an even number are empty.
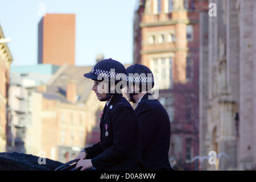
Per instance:
[[[8,126],[6,150],[26,152],[27,123],[31,121],[31,93],[37,86],[46,84],[59,68],[51,64],[12,66],[8,92]]]

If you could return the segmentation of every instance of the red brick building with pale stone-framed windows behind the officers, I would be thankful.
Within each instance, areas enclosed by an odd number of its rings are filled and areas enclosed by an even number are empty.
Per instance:
[[[207,1],[140,1],[134,14],[134,63],[147,65],[171,120],[170,162],[197,169],[199,155],[199,18]]]

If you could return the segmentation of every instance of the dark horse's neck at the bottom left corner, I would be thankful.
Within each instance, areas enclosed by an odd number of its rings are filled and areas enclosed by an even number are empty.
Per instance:
[[[54,171],[64,163],[19,152],[0,152],[0,171]]]

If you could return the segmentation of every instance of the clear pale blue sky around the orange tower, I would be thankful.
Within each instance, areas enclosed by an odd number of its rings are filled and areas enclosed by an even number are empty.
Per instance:
[[[103,53],[123,64],[133,59],[133,18],[138,0],[0,0],[0,24],[14,65],[36,65],[38,23],[46,13],[76,14],[76,65],[94,65]]]

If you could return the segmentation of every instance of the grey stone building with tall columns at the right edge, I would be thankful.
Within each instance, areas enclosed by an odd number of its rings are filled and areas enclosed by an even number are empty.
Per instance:
[[[200,156],[208,170],[255,170],[256,1],[212,0],[201,14]]]

